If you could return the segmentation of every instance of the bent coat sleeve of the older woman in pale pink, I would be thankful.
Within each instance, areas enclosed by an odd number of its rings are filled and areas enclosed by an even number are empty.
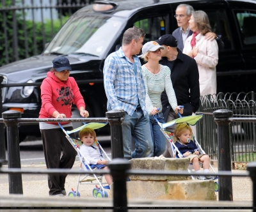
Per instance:
[[[194,57],[196,63],[205,66],[207,68],[214,68],[218,64],[218,44],[216,40],[205,40],[207,42],[206,45],[206,55],[198,54]],[[200,46],[198,47],[200,49]]]

